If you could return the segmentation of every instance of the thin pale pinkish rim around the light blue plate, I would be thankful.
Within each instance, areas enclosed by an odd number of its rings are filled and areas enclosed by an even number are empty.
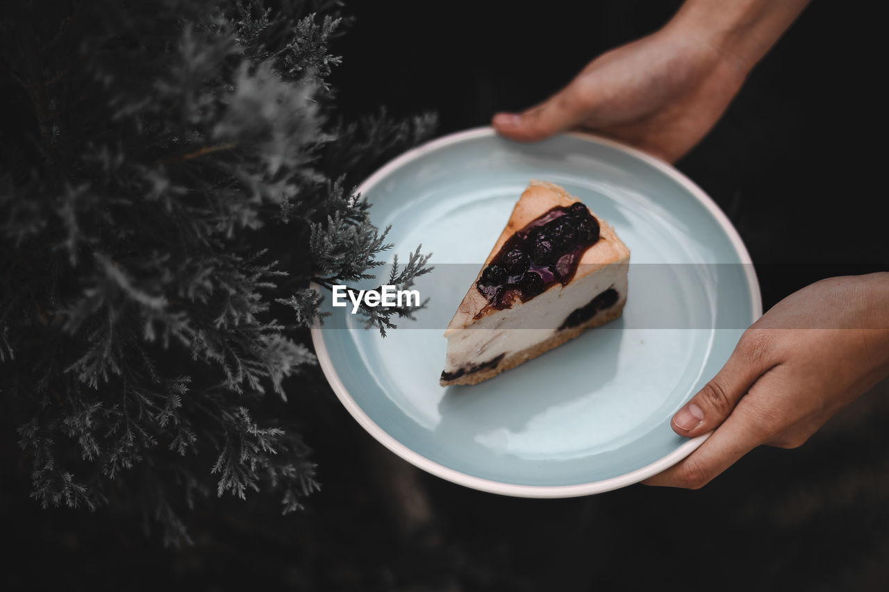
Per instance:
[[[429,152],[462,141],[475,140],[478,138],[485,138],[497,135],[498,134],[497,132],[494,132],[493,127],[486,125],[483,127],[463,130],[461,132],[453,132],[448,135],[442,136],[441,138],[429,140],[428,142],[418,146],[417,148],[412,148],[404,152],[400,156],[396,156],[396,158],[381,166],[380,169],[378,169],[376,172],[373,172],[370,177],[365,179],[356,188],[356,194],[364,196],[368,190],[373,188],[380,181],[380,179],[385,178],[389,174],[389,172],[395,171],[396,169],[404,166],[404,164],[410,163],[411,161],[416,160],[421,156],[425,156]],[[663,172],[668,177],[675,180],[683,188],[685,188],[690,194],[692,194],[692,196],[694,196],[699,202],[701,202],[701,204],[703,204],[704,207],[707,208],[708,212],[717,220],[719,226],[723,229],[726,236],[728,236],[729,242],[732,244],[735,252],[738,253],[739,258],[741,259],[741,263],[744,264],[745,277],[747,279],[748,288],[751,293],[750,300],[752,304],[752,317],[755,321],[757,318],[762,316],[762,293],[759,289],[757,272],[756,269],[753,267],[753,261],[750,259],[747,247],[744,245],[743,241],[741,241],[741,236],[738,234],[737,229],[734,228],[731,220],[728,219],[728,216],[725,215],[725,212],[723,212],[716,204],[716,202],[713,201],[713,198],[707,195],[707,193],[705,193],[703,189],[698,187],[693,180],[686,177],[683,172],[680,172],[672,164],[669,164],[656,156],[647,154],[642,150],[639,150],[638,148],[627,146],[626,144],[623,144],[617,140],[604,138],[602,136],[597,136],[595,134],[586,132],[565,132],[558,135],[576,138],[578,140],[589,141],[593,144],[604,145],[609,148],[616,149],[619,152],[623,152],[629,156],[634,156],[638,160],[642,160],[646,164],[649,164],[659,171]],[[320,292],[321,286],[315,283],[312,283],[311,286],[313,289]],[[637,468],[636,470],[630,471],[629,473],[624,473],[623,475],[609,477],[600,481],[592,481],[586,484],[509,484],[501,481],[494,481],[493,479],[485,479],[479,476],[468,475],[454,468],[445,467],[444,465],[439,464],[434,460],[426,458],[419,452],[413,451],[407,445],[402,444],[401,442],[396,440],[395,437],[389,435],[389,433],[383,428],[380,428],[380,426],[377,425],[377,423],[373,421],[366,412],[364,412],[361,406],[356,403],[355,399],[353,399],[352,396],[348,394],[346,386],[343,384],[342,380],[340,380],[339,374],[333,367],[332,358],[330,356],[330,352],[327,350],[327,345],[324,343],[324,332],[317,317],[312,324],[311,336],[318,363],[321,366],[322,372],[324,372],[324,377],[327,379],[327,382],[333,389],[333,392],[336,394],[337,398],[340,399],[340,403],[343,404],[344,407],[346,407],[346,410],[349,412],[349,414],[351,414],[352,417],[358,422],[358,424],[361,425],[361,427],[364,428],[371,436],[373,436],[374,439],[380,442],[380,444],[386,446],[386,448],[388,448],[388,450],[390,450],[391,452],[395,452],[399,457],[410,462],[415,467],[421,468],[428,473],[431,473],[432,475],[441,477],[447,481],[451,481],[452,483],[464,485],[466,487],[477,489],[482,492],[499,493],[501,495],[509,495],[522,498],[570,498],[581,495],[609,492],[614,489],[620,489],[621,487],[626,487],[627,485],[638,483],[650,476],[657,475],[667,468],[672,467],[673,465],[677,464],[677,462],[683,460],[686,456],[694,452],[694,450],[697,449],[698,446],[703,444],[703,442],[712,433],[709,432],[702,436],[697,436],[689,439],[673,452],[670,452],[666,456],[661,457],[661,459],[655,460],[651,464],[645,465],[645,467]]]

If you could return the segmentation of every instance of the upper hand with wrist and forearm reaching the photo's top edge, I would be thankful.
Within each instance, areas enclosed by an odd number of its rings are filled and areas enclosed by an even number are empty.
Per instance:
[[[687,0],[657,33],[592,60],[540,105],[498,113],[493,127],[524,141],[596,132],[675,162],[717,123],[806,2]]]

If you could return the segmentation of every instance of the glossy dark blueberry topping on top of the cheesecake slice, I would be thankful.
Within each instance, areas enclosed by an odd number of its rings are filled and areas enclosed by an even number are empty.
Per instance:
[[[476,286],[488,308],[509,308],[516,298],[531,300],[550,285],[568,284],[583,253],[599,240],[599,222],[587,206],[557,205],[509,240],[482,271]]]

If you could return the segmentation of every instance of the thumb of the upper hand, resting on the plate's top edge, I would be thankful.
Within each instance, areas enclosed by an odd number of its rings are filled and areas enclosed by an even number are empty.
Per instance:
[[[569,84],[545,102],[520,114],[496,114],[491,124],[496,132],[510,140],[536,141],[565,132],[586,118],[584,101],[576,86]]]

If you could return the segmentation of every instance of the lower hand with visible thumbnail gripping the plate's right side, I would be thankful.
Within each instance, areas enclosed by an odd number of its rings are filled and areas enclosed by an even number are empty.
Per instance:
[[[889,273],[807,286],[744,332],[671,422],[680,436],[716,431],[644,483],[697,489],[760,444],[795,448],[887,375]]]

